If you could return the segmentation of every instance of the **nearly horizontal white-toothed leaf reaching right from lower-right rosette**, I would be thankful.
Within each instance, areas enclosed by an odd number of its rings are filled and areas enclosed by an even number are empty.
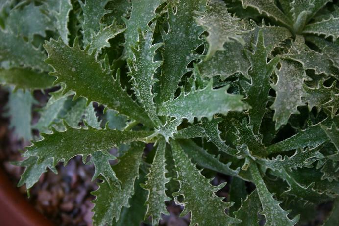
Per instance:
[[[291,169],[297,167],[312,167],[312,163],[325,158],[319,150],[321,147],[316,146],[315,148],[306,148],[305,150],[297,149],[291,156],[278,155],[272,159],[259,158],[256,160],[259,164],[266,166],[272,170],[282,171],[284,169]]]

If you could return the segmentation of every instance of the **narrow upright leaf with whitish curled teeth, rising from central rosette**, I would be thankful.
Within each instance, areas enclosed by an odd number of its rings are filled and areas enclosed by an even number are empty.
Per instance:
[[[133,60],[128,60],[128,67],[130,72],[133,90],[137,99],[145,108],[149,117],[155,125],[160,125],[161,122],[157,116],[156,107],[153,98],[156,94],[152,92],[152,87],[157,82],[154,79],[154,74],[162,61],[153,61],[155,51],[162,45],[162,43],[153,44],[153,31],[148,30],[145,34],[139,30],[138,42],[135,47],[132,47]]]

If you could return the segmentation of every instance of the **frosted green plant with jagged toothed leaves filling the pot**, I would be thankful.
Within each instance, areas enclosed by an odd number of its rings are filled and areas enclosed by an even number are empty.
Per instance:
[[[32,140],[19,186],[81,155],[99,179],[95,226],[158,225],[170,200],[191,226],[301,225],[330,201],[324,225],[338,226],[337,0],[2,0],[0,13],[10,126]],[[53,86],[31,123],[32,91]]]

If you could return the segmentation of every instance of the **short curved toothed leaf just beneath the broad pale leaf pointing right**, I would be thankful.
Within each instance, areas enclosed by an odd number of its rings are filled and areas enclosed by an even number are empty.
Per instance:
[[[223,151],[230,155],[237,155],[238,151],[228,145],[220,137],[221,131],[218,129],[218,124],[222,121],[222,118],[213,118],[208,120],[206,118],[201,119],[201,126],[204,130],[204,135],[208,138],[208,141],[213,142],[220,151]]]

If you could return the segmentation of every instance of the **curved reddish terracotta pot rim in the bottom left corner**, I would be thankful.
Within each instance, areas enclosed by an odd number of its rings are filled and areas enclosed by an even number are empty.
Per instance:
[[[9,181],[0,167],[0,225],[53,226]]]

